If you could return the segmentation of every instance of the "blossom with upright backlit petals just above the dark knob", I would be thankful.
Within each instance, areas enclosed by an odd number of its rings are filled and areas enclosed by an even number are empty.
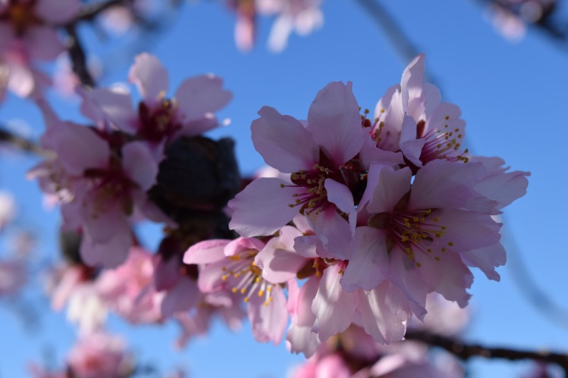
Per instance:
[[[100,123],[108,123],[123,132],[159,145],[178,136],[195,136],[218,125],[213,112],[231,100],[222,89],[222,80],[201,75],[181,82],[172,98],[166,97],[168,72],[154,55],[136,56],[128,74],[136,85],[141,101],[132,106],[130,93],[119,89],[84,89],[82,112]]]

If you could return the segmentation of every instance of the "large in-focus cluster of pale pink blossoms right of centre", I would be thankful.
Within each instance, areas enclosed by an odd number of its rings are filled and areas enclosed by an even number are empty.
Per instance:
[[[277,253],[251,253],[247,269],[263,285],[287,286],[296,352],[312,354],[351,324],[379,343],[398,341],[411,314],[425,316],[427,294],[468,304],[470,267],[499,280],[506,256],[495,215],[524,195],[529,173],[463,147],[459,107],[424,82],[424,64],[424,55],[409,64],[372,119],[350,83],[333,82],[306,121],[263,107],[251,125],[256,150],[285,178],[251,182],[229,202],[230,226],[249,243],[287,240]],[[222,267],[234,271],[222,263],[202,272],[221,277]],[[298,288],[294,276],[307,281]],[[256,288],[240,282],[248,295]]]

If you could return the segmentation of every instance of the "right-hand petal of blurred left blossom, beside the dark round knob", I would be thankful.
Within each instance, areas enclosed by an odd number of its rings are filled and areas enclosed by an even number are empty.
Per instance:
[[[146,191],[156,183],[158,162],[148,145],[141,141],[127,143],[122,149],[125,174]]]

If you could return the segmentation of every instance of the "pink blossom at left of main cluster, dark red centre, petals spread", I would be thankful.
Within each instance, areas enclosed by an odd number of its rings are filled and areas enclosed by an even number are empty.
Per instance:
[[[351,83],[333,82],[319,91],[306,125],[270,107],[258,114],[251,125],[254,146],[268,165],[290,173],[292,184],[277,178],[250,183],[229,201],[229,227],[247,237],[271,235],[301,213],[326,248],[341,249],[355,220],[350,186],[356,180],[344,173],[366,140]]]

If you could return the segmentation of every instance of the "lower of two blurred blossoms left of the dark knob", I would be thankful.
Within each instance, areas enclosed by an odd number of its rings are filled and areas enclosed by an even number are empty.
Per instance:
[[[60,197],[66,228],[82,230],[83,261],[116,267],[132,245],[135,210],[154,217],[145,192],[156,180],[155,156],[141,141],[112,145],[105,132],[62,122],[40,105],[47,124],[42,145],[57,159],[42,163],[31,176]]]

